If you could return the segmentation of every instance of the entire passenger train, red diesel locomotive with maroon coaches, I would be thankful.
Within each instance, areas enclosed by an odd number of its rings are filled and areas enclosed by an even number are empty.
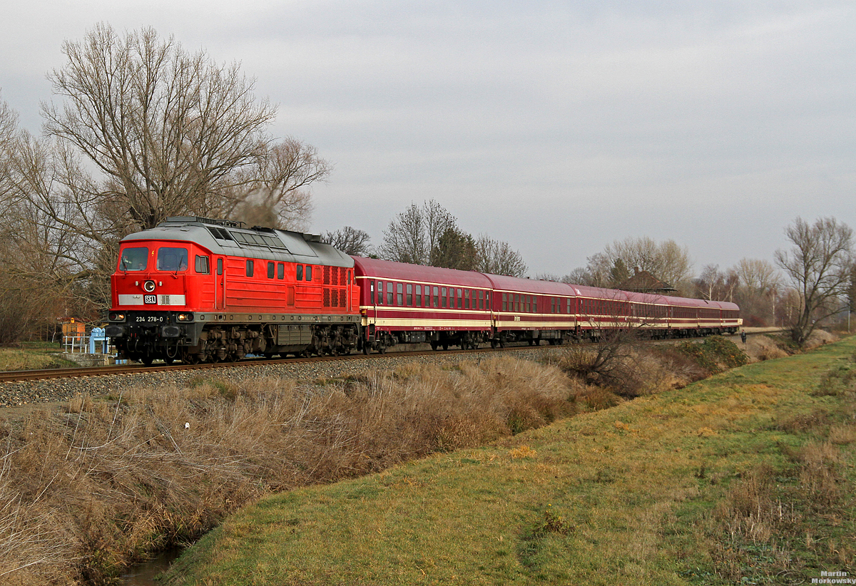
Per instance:
[[[151,364],[734,333],[725,302],[348,257],[311,234],[171,217],[122,240],[105,334]]]

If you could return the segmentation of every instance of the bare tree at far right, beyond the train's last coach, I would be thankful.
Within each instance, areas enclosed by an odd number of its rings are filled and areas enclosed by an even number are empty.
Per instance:
[[[813,224],[798,217],[785,234],[794,246],[777,250],[776,264],[800,295],[800,310],[790,329],[794,342],[802,346],[817,323],[841,309],[853,264],[853,230],[831,217]]]

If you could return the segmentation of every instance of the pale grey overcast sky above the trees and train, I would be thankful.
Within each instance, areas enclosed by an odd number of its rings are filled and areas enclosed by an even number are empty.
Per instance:
[[[0,22],[21,126],[39,133],[62,41],[99,21],[241,62],[271,132],[334,165],[314,232],[377,246],[433,198],[534,276],[627,237],[687,246],[698,273],[772,261],[797,216],[856,228],[852,0],[29,0]]]

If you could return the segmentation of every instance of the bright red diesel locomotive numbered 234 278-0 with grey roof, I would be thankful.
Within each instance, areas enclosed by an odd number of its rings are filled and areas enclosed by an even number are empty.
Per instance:
[[[354,261],[318,236],[171,217],[122,239],[105,334],[151,364],[350,352]]]

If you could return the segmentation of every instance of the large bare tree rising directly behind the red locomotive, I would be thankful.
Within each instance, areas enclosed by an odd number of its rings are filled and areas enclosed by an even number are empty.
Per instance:
[[[62,51],[68,62],[48,78],[65,104],[43,104],[45,131],[94,163],[103,180],[74,195],[121,216],[120,227],[241,206],[300,222],[311,210],[298,195],[329,164],[294,139],[272,143],[276,109],[236,63],[187,53],[152,28],[120,37],[106,24]]]

